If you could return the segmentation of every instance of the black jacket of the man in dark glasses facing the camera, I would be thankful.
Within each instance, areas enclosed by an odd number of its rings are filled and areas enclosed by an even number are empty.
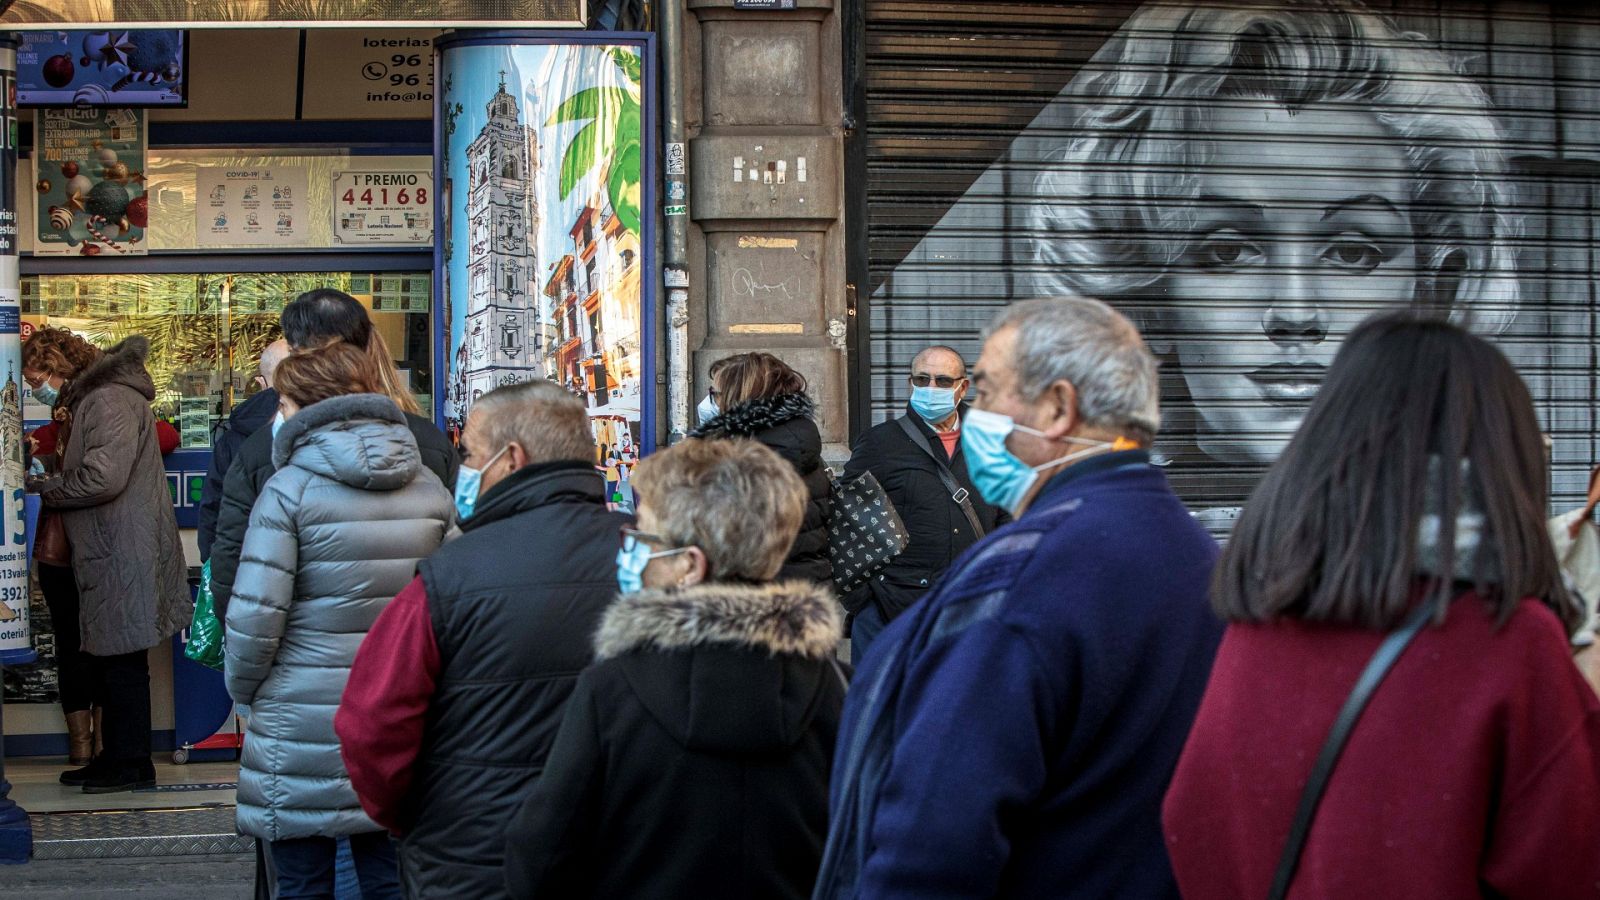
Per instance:
[[[1003,511],[979,496],[966,472],[966,456],[960,444],[955,445],[955,455],[946,458],[944,442],[922,421],[922,416],[907,412],[904,418],[917,426],[928,448],[944,460],[942,464],[949,468],[955,484],[966,488],[984,532],[992,532],[1010,520]],[[845,463],[845,477],[870,471],[894,503],[910,541],[870,581],[845,597],[845,609],[850,612],[859,612],[869,601],[875,601],[885,621],[893,620],[922,599],[955,557],[978,543],[978,535],[973,533],[960,503],[939,479],[939,461],[912,442],[899,420],[880,423],[856,440],[856,448]]]

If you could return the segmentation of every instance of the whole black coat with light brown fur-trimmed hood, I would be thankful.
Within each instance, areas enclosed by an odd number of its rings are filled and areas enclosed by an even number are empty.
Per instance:
[[[845,701],[805,581],[626,594],[506,846],[512,897],[811,895]]]

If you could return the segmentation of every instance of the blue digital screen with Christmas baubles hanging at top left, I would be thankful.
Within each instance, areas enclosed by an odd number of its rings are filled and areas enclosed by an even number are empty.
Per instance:
[[[18,106],[186,106],[189,42],[178,29],[22,32]]]

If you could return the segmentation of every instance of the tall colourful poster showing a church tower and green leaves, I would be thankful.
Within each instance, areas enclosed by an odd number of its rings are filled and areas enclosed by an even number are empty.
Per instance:
[[[642,442],[642,45],[448,45],[437,295],[443,418],[549,378],[582,397],[613,496]],[[446,367],[442,367],[446,368]]]

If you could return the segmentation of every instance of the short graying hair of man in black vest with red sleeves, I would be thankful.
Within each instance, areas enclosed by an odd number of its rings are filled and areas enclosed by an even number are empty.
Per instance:
[[[504,384],[472,404],[482,420],[483,436],[496,452],[522,445],[528,463],[594,463],[595,439],[589,431],[584,402],[554,381],[538,380]]]

